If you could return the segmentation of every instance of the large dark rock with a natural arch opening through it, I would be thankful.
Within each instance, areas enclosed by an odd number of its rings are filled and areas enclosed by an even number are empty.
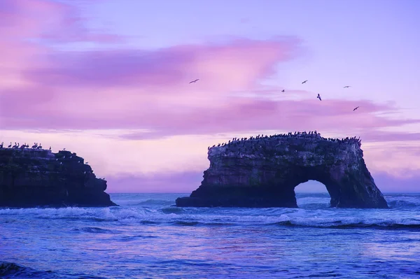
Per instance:
[[[202,184],[176,206],[295,208],[295,187],[316,180],[332,207],[388,208],[360,145],[356,138],[323,138],[316,131],[234,138],[209,148]]]

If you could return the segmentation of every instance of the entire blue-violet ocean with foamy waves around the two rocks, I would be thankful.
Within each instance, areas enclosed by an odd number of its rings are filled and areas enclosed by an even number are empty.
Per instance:
[[[111,194],[119,207],[0,208],[0,278],[420,278],[420,194],[390,209],[176,208],[188,194]]]

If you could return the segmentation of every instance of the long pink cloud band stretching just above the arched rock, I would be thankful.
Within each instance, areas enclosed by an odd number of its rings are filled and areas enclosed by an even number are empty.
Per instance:
[[[232,98],[229,103],[229,106],[223,108],[200,108],[184,113],[153,113],[149,117],[137,121],[147,129],[158,129],[156,135],[150,133],[131,134],[127,135],[127,138],[258,130],[317,130],[360,135],[362,134],[360,131],[420,122],[420,120],[393,120],[376,116],[374,115],[375,111],[395,108],[379,106],[370,101],[330,100],[321,103],[318,100],[310,99],[270,101]],[[353,107],[356,105],[363,106],[364,110],[353,112]]]

